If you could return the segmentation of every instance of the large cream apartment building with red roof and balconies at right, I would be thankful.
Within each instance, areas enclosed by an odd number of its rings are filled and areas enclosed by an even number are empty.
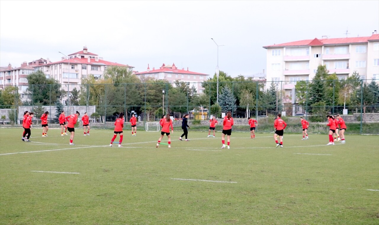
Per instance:
[[[298,40],[263,48],[267,50],[267,81],[279,83],[286,97],[297,81],[312,80],[318,65],[326,65],[338,79],[357,71],[361,79],[379,81],[379,34]]]

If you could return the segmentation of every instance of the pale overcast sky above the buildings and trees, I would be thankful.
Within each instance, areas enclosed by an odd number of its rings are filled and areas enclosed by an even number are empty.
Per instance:
[[[163,63],[213,75],[266,69],[266,50],[296,40],[371,36],[379,0],[11,1],[0,0],[0,65],[59,61],[88,47],[106,61],[146,71]]]

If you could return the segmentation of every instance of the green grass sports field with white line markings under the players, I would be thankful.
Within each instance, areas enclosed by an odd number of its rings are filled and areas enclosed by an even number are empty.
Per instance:
[[[379,224],[379,137],[0,128],[0,224]],[[116,141],[119,138],[117,137]],[[167,137],[163,141],[167,143]],[[53,173],[66,172],[66,173]]]

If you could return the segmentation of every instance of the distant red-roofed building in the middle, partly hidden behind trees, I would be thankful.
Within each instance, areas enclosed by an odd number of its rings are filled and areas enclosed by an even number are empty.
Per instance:
[[[153,67],[153,69],[150,70],[148,64],[147,71],[136,73],[136,75],[140,79],[154,78],[157,80],[167,80],[174,86],[174,81],[176,80],[188,82],[190,87],[194,86],[196,88],[197,93],[203,92],[204,88],[201,86],[201,83],[203,81],[206,81],[209,76],[208,74],[189,71],[188,67],[187,70],[185,70],[184,68],[179,69],[175,66],[174,63],[172,63],[172,65],[162,64],[162,66],[157,70],[155,69],[155,67]]]

